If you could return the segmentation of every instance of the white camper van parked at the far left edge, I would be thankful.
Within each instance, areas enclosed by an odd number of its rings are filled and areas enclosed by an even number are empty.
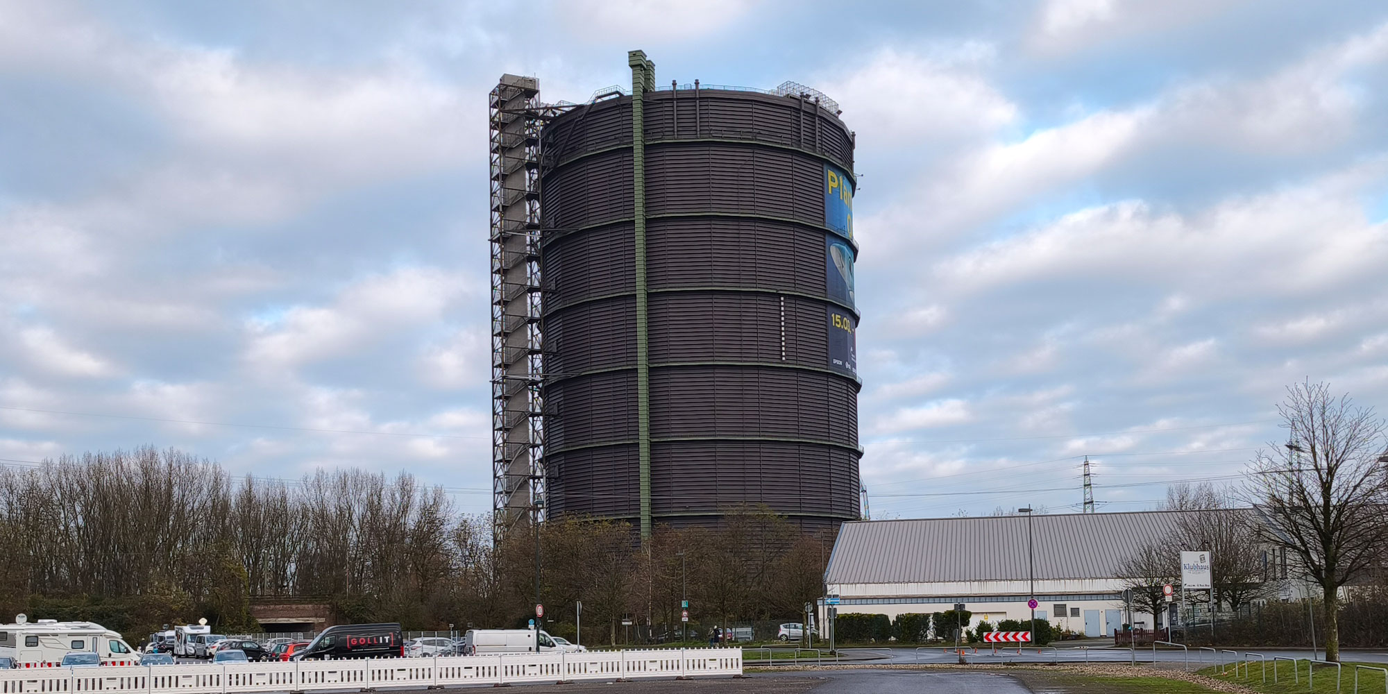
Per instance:
[[[29,622],[19,615],[0,625],[0,658],[14,658],[17,668],[57,668],[72,651],[94,652],[101,665],[139,665],[140,654],[121,634],[92,622]]]

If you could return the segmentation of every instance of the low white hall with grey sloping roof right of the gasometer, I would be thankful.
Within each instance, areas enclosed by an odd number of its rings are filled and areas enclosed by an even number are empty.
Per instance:
[[[1252,512],[1252,509],[1245,509]],[[856,520],[843,523],[824,570],[838,613],[944,612],[963,602],[970,627],[1035,618],[1085,636],[1123,623],[1123,562],[1173,533],[1178,511]],[[1029,547],[1029,522],[1030,547]],[[1029,552],[1030,548],[1030,552]],[[1199,550],[1192,547],[1191,550]],[[1033,589],[1033,582],[1035,587]],[[819,623],[823,623],[819,608]],[[1135,612],[1134,626],[1165,620]]]

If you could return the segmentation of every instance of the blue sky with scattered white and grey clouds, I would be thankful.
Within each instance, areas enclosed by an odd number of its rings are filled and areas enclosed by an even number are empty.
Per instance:
[[[1388,408],[1388,6],[0,0],[0,464],[143,444],[490,508],[487,93],[837,100],[873,518],[1237,483]]]

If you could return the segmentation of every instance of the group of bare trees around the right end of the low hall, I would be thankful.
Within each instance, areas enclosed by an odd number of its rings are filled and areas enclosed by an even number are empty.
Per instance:
[[[1385,594],[1388,423],[1309,380],[1287,389],[1278,414],[1287,443],[1259,451],[1239,486],[1173,487],[1173,533],[1134,548],[1120,573],[1138,608],[1153,613],[1165,607],[1162,586],[1180,583],[1180,550],[1210,552],[1216,609],[1314,586],[1309,597],[1323,608],[1326,659],[1338,661],[1346,597]]]

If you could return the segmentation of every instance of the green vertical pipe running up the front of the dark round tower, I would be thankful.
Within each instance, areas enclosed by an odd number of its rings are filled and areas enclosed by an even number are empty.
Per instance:
[[[645,314],[645,90],[655,89],[655,64],[645,51],[627,53],[632,67],[632,192],[636,235],[636,409],[641,465],[641,543],[651,539],[651,359]]]

